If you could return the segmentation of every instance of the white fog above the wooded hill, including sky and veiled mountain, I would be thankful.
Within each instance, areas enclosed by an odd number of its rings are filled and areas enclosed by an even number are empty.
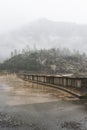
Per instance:
[[[86,0],[0,1],[0,58],[26,45],[86,52],[86,5]]]

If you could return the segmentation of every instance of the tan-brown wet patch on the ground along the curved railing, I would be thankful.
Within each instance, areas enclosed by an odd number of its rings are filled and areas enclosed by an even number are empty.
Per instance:
[[[0,99],[0,103],[21,105],[71,100],[73,96],[55,88],[24,81],[16,75],[7,75],[0,77]]]

